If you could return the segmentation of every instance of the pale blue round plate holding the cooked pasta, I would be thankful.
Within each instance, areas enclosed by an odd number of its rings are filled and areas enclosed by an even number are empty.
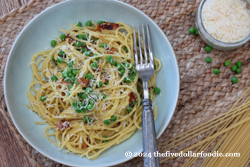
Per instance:
[[[59,36],[59,28],[68,29],[70,24],[87,20],[124,22],[129,25],[148,23],[153,43],[154,56],[161,60],[162,69],[158,73],[157,86],[161,94],[155,105],[158,108],[156,119],[157,137],[166,129],[176,107],[179,94],[179,71],[173,49],[161,29],[143,12],[119,1],[74,0],[54,5],[36,16],[25,26],[16,39],[6,64],[4,78],[5,100],[11,118],[25,140],[37,151],[50,159],[70,166],[111,166],[125,162],[125,152],[142,151],[142,131],[136,133],[120,145],[103,152],[97,159],[88,160],[76,154],[59,152],[43,135],[46,125],[35,125],[41,118],[32,113],[27,89],[31,83],[30,61],[33,54],[50,47],[50,41]]]

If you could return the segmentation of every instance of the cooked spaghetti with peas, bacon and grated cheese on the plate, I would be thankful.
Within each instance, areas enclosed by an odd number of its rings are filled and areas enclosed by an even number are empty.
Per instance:
[[[133,31],[122,22],[71,26],[60,29],[65,34],[53,49],[32,57],[27,107],[44,119],[36,124],[48,124],[44,135],[59,151],[95,159],[142,129],[143,91]],[[152,101],[161,68],[158,59],[154,63],[148,82]],[[155,117],[156,112],[154,108]]]

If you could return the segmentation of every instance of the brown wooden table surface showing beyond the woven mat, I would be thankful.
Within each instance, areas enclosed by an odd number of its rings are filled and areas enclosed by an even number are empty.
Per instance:
[[[0,0],[0,17],[28,2],[29,0]],[[0,166],[31,167],[32,165],[8,128],[3,116],[1,116],[0,121]]]

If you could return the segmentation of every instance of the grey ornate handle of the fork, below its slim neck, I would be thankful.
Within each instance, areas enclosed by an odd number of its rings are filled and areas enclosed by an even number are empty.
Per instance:
[[[151,155],[143,157],[144,167],[159,167],[159,159],[154,156],[154,153],[157,155],[157,140],[151,99],[143,99],[142,106],[143,153]]]

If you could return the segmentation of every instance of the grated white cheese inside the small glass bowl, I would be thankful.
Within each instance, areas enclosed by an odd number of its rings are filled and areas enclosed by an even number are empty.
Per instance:
[[[207,0],[202,22],[215,39],[235,43],[250,34],[250,9],[246,0]]]

